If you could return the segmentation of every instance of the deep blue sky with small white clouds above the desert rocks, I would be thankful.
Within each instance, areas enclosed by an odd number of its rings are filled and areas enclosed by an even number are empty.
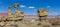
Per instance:
[[[48,10],[49,15],[60,15],[60,0],[0,0],[0,12],[8,12],[8,6],[13,7],[14,3],[18,3],[19,10],[28,15],[37,15],[39,8]]]

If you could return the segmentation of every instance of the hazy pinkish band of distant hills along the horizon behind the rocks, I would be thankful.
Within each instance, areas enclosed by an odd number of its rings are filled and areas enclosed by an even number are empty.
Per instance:
[[[0,17],[3,17],[3,16],[4,17],[8,16],[8,13],[0,12]],[[57,16],[50,15],[47,18],[55,18],[55,17],[60,17],[60,15],[57,15]],[[36,18],[37,19],[39,17],[37,15],[24,15],[24,18]]]

